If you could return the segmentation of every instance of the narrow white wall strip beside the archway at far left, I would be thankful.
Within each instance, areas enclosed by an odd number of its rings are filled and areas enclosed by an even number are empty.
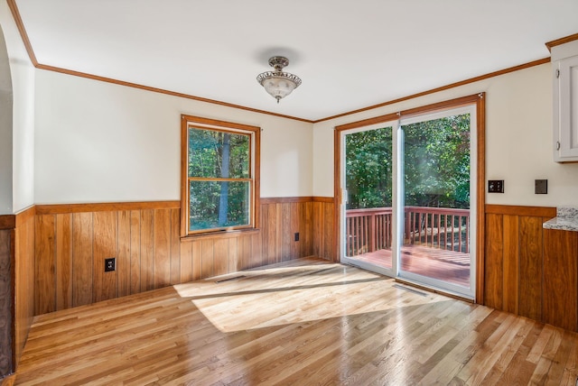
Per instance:
[[[34,68],[5,1],[0,1],[0,25],[5,35],[14,101],[9,167],[12,170],[11,211],[6,213],[17,213],[34,203]],[[7,165],[7,161],[0,161],[0,169]]]

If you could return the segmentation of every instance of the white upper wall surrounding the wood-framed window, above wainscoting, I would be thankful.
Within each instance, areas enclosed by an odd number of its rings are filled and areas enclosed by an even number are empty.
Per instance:
[[[312,196],[312,124],[36,70],[37,204],[180,199],[181,115],[263,129],[261,196]]]

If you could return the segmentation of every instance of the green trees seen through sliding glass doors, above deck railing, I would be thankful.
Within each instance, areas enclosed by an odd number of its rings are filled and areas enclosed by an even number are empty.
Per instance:
[[[470,115],[403,127],[405,205],[470,207]],[[391,207],[391,127],[346,136],[348,209]]]

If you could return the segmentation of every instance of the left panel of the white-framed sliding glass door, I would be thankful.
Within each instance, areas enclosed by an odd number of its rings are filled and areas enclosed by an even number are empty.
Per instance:
[[[342,262],[396,274],[393,201],[397,123],[342,133]]]

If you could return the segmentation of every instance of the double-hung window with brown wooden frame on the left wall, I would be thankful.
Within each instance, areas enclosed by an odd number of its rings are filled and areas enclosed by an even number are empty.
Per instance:
[[[182,115],[182,236],[256,228],[260,132]]]

